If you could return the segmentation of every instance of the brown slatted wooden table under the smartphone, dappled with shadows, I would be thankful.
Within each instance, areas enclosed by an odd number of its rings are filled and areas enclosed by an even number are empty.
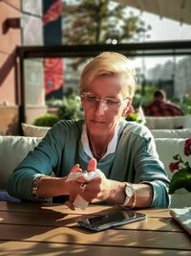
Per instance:
[[[191,255],[191,237],[168,209],[146,209],[147,219],[103,232],[76,221],[115,207],[90,205],[84,212],[48,203],[0,202],[0,255]]]

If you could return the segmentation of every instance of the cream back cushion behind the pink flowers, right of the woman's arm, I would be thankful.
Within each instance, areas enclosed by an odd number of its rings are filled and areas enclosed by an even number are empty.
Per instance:
[[[189,160],[187,156],[183,154],[183,146],[185,139],[178,138],[158,138],[155,139],[157,151],[159,153],[159,159],[164,165],[165,171],[169,178],[172,177],[172,173],[169,170],[169,164],[175,162],[173,156],[180,153],[182,159]],[[171,207],[185,207],[191,206],[191,193],[180,189],[172,195]]]

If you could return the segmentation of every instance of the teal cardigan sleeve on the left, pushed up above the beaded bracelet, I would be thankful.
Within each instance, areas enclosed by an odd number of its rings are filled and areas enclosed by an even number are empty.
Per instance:
[[[64,169],[61,166],[63,153],[66,153],[66,149],[71,154],[74,151],[74,147],[71,146],[70,149],[66,143],[71,142],[71,137],[76,137],[76,130],[77,125],[70,121],[61,121],[51,128],[38,146],[30,151],[12,172],[7,187],[8,193],[14,198],[33,200],[32,182],[35,177],[53,173],[60,176],[60,170]]]

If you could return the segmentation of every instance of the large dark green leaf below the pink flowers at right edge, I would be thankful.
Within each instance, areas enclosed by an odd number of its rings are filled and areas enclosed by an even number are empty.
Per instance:
[[[191,192],[191,172],[189,169],[180,169],[172,176],[169,185],[169,194],[174,194],[176,190],[184,188]]]

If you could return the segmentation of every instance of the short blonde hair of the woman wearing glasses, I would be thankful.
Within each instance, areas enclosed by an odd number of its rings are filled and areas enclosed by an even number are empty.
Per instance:
[[[92,81],[105,75],[119,78],[124,98],[134,96],[137,81],[136,71],[131,67],[129,58],[114,52],[103,52],[84,67],[79,82],[79,92],[87,91]]]

